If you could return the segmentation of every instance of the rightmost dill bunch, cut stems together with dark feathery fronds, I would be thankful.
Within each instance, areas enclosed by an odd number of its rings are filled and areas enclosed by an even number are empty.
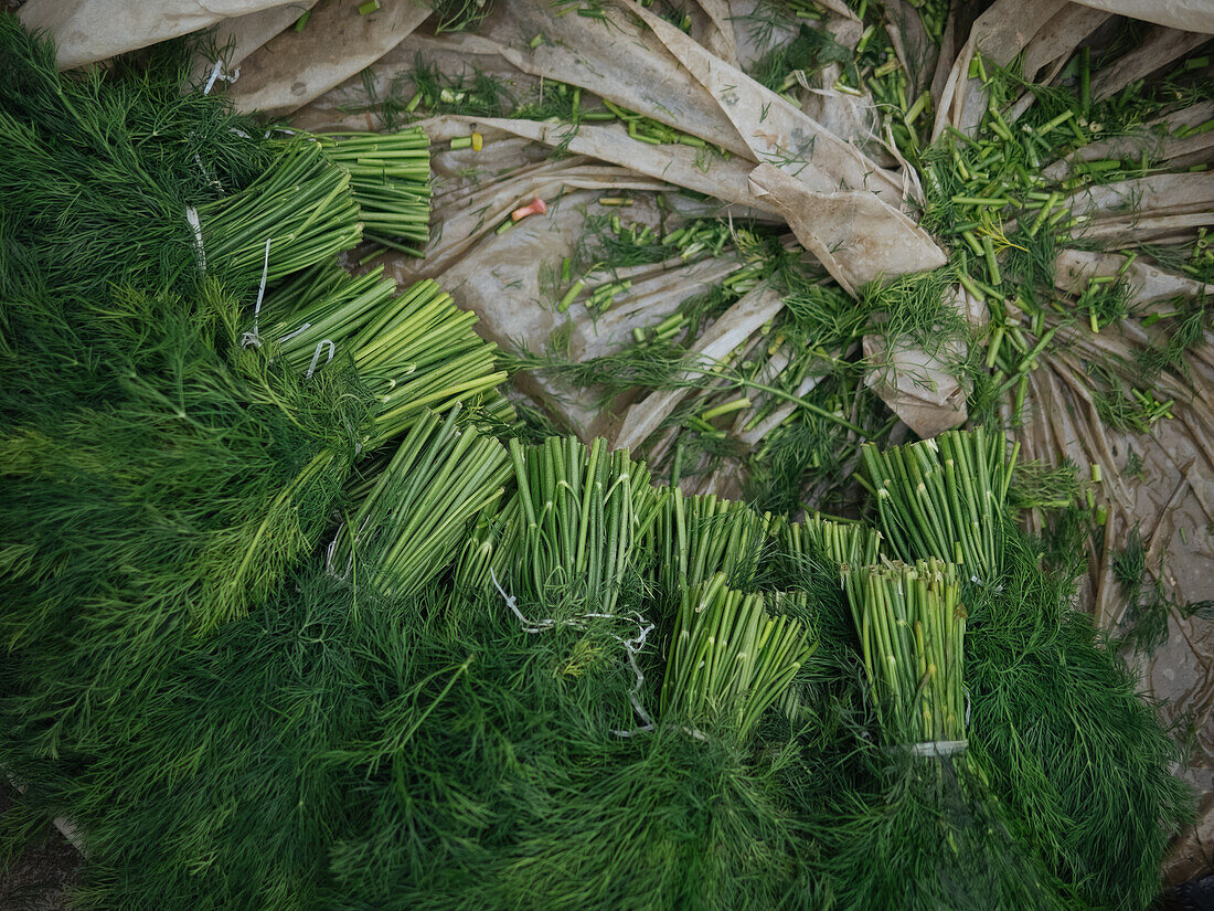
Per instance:
[[[901,447],[889,463],[890,453],[869,452],[868,464],[877,468],[870,477],[892,479],[884,490],[894,493],[879,497],[878,509],[891,538],[891,530],[904,532],[900,555],[915,542],[912,554],[943,560],[958,544],[932,531],[927,504],[938,515],[947,502],[954,516],[972,517],[983,515],[986,502],[1000,516],[1015,451],[1005,459],[1002,438],[975,430],[946,434],[935,449],[904,452],[923,446]],[[971,465],[987,453],[986,477],[995,480],[949,483],[946,473],[941,488],[938,457],[946,452],[970,453]],[[912,462],[936,473],[918,502],[906,475],[885,468]],[[992,567],[966,595],[975,634],[966,638],[965,673],[971,723],[982,732],[983,786],[998,796],[1000,813],[1015,816],[1016,837],[1038,847],[1060,896],[1101,905],[1121,895],[1127,907],[1146,907],[1169,834],[1187,813],[1187,788],[1168,771],[1179,759],[1176,745],[1138,692],[1131,669],[1072,610],[1070,567],[1050,566],[1040,543],[1004,521],[989,536],[969,536],[963,553],[985,554]]]

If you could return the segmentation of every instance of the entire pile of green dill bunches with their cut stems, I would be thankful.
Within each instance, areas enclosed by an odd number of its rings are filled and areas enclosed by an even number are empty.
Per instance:
[[[0,17],[6,853],[66,817],[124,911],[1151,902],[1176,748],[1002,436],[866,448],[872,524],[526,445],[472,315],[336,265],[325,145],[175,60]]]

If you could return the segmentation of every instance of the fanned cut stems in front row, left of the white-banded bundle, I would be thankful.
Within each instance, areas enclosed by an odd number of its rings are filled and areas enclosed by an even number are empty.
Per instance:
[[[813,653],[801,623],[719,572],[683,590],[662,685],[663,718],[745,740]]]

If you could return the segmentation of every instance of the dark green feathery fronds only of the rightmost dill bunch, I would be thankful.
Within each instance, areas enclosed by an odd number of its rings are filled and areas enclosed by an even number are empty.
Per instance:
[[[992,787],[1090,905],[1146,909],[1170,836],[1191,816],[1180,747],[1090,617],[1073,564],[1009,530],[1005,572],[966,594],[971,729]]]

